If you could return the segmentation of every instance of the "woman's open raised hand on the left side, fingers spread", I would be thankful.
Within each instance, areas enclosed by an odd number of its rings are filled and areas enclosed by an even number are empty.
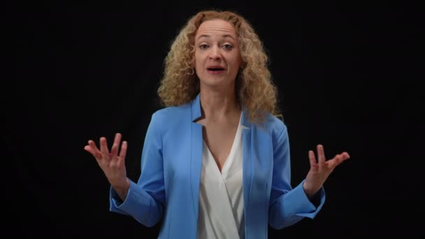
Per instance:
[[[96,159],[97,164],[101,167],[106,178],[110,182],[111,186],[120,194],[119,191],[127,194],[129,188],[129,180],[127,179],[127,172],[125,168],[125,154],[127,152],[127,141],[123,141],[120,148],[121,134],[115,135],[113,146],[109,152],[108,143],[105,137],[100,138],[100,150],[96,147],[93,140],[89,140],[88,145],[84,147],[84,150],[93,155]],[[120,151],[120,152],[119,152]],[[124,196],[120,195],[120,197]]]

